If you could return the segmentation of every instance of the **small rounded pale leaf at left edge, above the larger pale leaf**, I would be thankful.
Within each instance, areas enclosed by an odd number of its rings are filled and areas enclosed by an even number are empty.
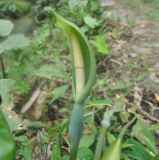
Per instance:
[[[0,19],[0,36],[8,36],[11,33],[13,27],[14,25],[11,21]]]

